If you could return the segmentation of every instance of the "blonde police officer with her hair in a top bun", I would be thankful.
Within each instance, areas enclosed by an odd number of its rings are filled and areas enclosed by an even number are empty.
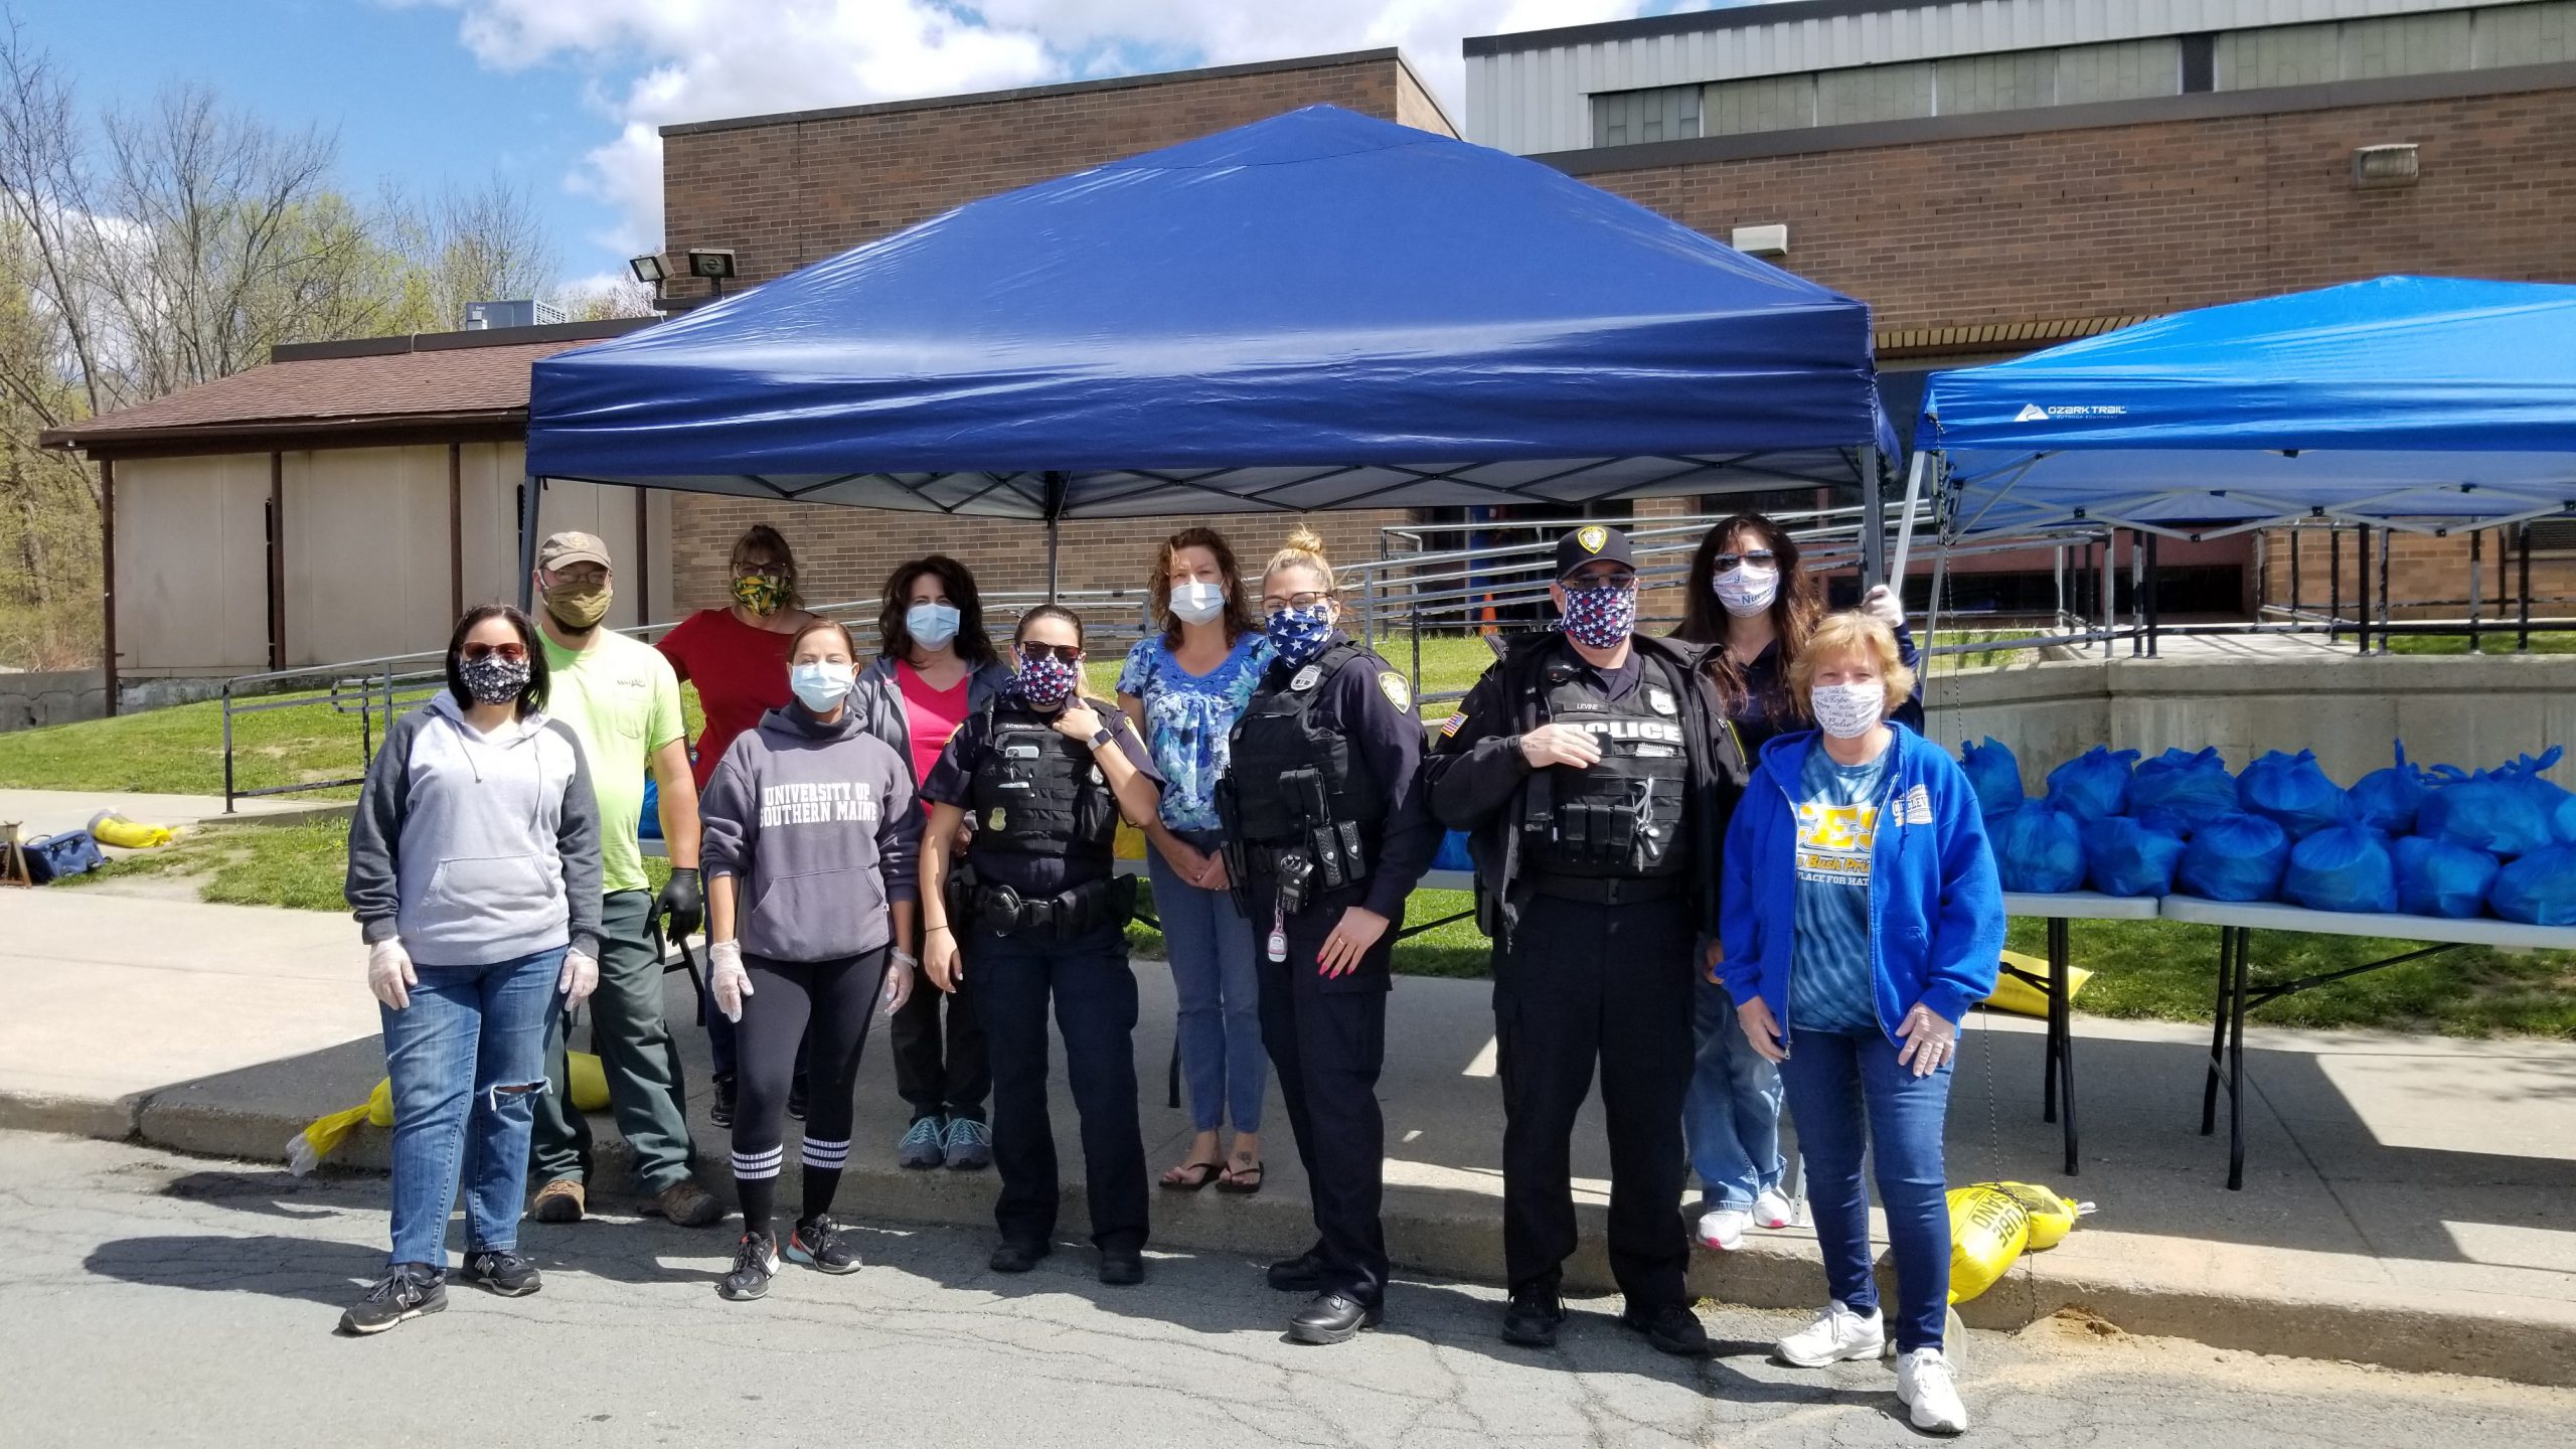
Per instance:
[[[1321,547],[1298,529],[1262,570],[1278,657],[1216,794],[1262,936],[1262,1044],[1314,1196],[1316,1245],[1270,1266],[1270,1287],[1316,1294],[1288,1323],[1301,1343],[1342,1343],[1383,1312],[1388,928],[1440,843],[1414,789],[1412,686],[1334,627]]]

